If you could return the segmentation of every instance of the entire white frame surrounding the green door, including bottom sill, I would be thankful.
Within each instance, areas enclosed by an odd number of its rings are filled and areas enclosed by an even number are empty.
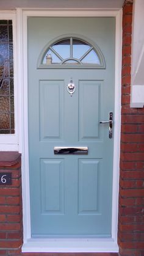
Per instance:
[[[17,9],[18,39],[18,85],[20,86],[19,122],[21,123],[20,152],[22,153],[23,188],[23,252],[118,252],[118,187],[121,125],[121,45],[122,10],[118,9]],[[27,112],[27,17],[68,16],[96,17],[113,16],[116,21],[115,34],[115,117],[113,148],[113,192],[112,192],[112,238],[92,239],[37,239],[31,238],[31,214],[29,194],[29,147]]]

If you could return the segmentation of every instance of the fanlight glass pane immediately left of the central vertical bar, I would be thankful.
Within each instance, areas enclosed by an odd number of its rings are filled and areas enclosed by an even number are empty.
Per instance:
[[[63,59],[70,57],[70,39],[62,40],[52,45],[52,48],[59,53]]]

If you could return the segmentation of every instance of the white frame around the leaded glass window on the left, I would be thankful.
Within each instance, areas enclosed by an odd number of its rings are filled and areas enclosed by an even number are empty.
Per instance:
[[[13,27],[13,74],[14,74],[14,105],[15,134],[0,134],[0,151],[18,151],[18,86],[17,86],[17,41],[16,11],[1,10],[0,20],[12,20]]]

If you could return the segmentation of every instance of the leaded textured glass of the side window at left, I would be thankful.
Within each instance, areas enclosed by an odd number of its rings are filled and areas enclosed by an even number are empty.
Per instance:
[[[12,20],[0,20],[0,133],[15,133]]]

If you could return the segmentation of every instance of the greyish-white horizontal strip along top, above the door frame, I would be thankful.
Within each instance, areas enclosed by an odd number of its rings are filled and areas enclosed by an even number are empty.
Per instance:
[[[0,9],[15,9],[18,7],[121,9],[123,3],[124,0],[1,0]]]

